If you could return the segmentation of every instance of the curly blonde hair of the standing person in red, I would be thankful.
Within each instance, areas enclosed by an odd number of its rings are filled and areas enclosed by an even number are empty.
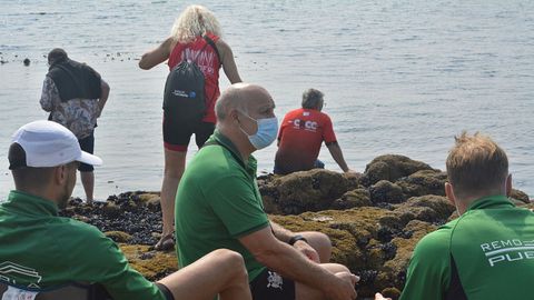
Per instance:
[[[170,36],[178,42],[187,43],[206,32],[220,37],[219,21],[209,9],[202,6],[189,6],[176,19]]]

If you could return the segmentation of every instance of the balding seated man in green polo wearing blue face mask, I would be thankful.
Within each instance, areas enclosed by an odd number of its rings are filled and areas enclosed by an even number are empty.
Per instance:
[[[319,263],[330,257],[325,234],[290,232],[264,212],[251,153],[276,140],[274,108],[255,84],[234,84],[217,100],[217,129],[189,163],[176,197],[180,267],[222,247],[244,257],[253,299],[355,299],[357,277],[344,266]]]

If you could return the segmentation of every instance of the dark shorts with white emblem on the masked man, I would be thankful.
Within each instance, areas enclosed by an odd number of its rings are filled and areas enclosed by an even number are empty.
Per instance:
[[[295,281],[265,269],[250,282],[254,300],[295,300]]]

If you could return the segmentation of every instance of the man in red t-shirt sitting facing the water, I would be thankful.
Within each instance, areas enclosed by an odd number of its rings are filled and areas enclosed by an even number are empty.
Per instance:
[[[323,92],[316,89],[304,91],[303,108],[289,111],[284,117],[278,133],[275,173],[287,174],[324,168],[325,164],[317,159],[323,141],[339,168],[344,172],[350,171],[337,143],[330,117],[320,112],[323,97]]]

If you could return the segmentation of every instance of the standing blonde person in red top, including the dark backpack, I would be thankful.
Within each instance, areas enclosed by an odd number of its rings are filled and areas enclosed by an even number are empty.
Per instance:
[[[141,69],[149,70],[168,60],[170,70],[164,94],[164,228],[155,246],[157,250],[175,244],[175,197],[186,168],[189,140],[195,134],[200,148],[214,133],[220,67],[231,83],[241,82],[231,48],[220,36],[219,22],[210,10],[189,6],[176,20],[171,36],[139,61]]]

